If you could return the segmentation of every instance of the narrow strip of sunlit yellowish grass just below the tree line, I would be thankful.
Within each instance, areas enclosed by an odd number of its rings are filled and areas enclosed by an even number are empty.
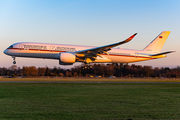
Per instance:
[[[145,78],[0,78],[0,82],[159,82],[180,83],[180,79],[145,79]]]

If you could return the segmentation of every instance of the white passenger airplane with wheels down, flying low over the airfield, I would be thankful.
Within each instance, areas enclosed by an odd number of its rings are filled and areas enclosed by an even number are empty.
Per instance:
[[[10,45],[4,50],[4,54],[13,57],[13,64],[16,64],[16,57],[28,57],[56,59],[60,65],[83,62],[85,68],[90,68],[92,67],[90,63],[131,63],[164,58],[166,54],[174,52],[160,52],[169,34],[170,31],[161,32],[143,50],[114,48],[131,41],[137,35],[135,33],[124,41],[101,47],[19,42]]]

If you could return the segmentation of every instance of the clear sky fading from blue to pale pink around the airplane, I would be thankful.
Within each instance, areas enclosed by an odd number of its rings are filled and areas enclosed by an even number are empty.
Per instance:
[[[162,31],[171,31],[166,58],[136,62],[180,66],[180,0],[0,0],[0,67],[12,66],[3,51],[16,42],[103,46],[138,35],[120,48],[142,50]],[[62,67],[58,60],[16,58],[17,66]],[[78,64],[75,64],[78,65]]]

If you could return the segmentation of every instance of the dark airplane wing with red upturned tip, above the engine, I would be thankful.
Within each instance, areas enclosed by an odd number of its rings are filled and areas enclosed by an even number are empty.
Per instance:
[[[91,61],[94,61],[97,56],[101,57],[101,54],[108,54],[107,51],[111,50],[111,48],[116,47],[118,45],[122,45],[124,43],[127,43],[127,42],[131,41],[136,34],[137,33],[130,36],[126,40],[118,42],[118,43],[105,45],[105,46],[101,46],[101,47],[95,47],[95,48],[92,48],[92,49],[86,49],[86,50],[77,51],[77,52],[75,52],[75,54],[80,59],[85,60],[85,59],[89,58]]]

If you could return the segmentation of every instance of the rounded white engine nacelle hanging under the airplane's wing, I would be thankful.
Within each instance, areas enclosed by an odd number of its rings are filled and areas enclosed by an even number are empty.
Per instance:
[[[60,65],[72,65],[76,62],[76,55],[73,53],[62,52],[59,53],[59,64]]]

